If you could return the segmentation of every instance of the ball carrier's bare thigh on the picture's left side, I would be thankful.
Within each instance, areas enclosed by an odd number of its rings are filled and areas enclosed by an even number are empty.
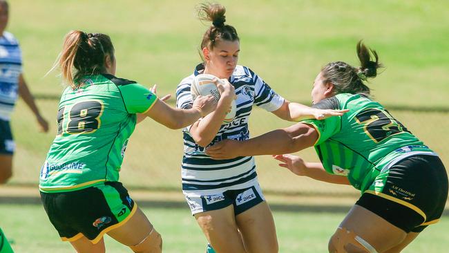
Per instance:
[[[202,232],[217,253],[246,253],[232,205],[195,214]]]

